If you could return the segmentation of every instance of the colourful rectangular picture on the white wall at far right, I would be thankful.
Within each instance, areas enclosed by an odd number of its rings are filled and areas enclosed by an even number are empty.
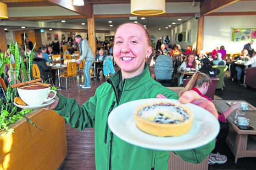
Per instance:
[[[256,39],[256,28],[232,28],[231,41],[248,41]]]

